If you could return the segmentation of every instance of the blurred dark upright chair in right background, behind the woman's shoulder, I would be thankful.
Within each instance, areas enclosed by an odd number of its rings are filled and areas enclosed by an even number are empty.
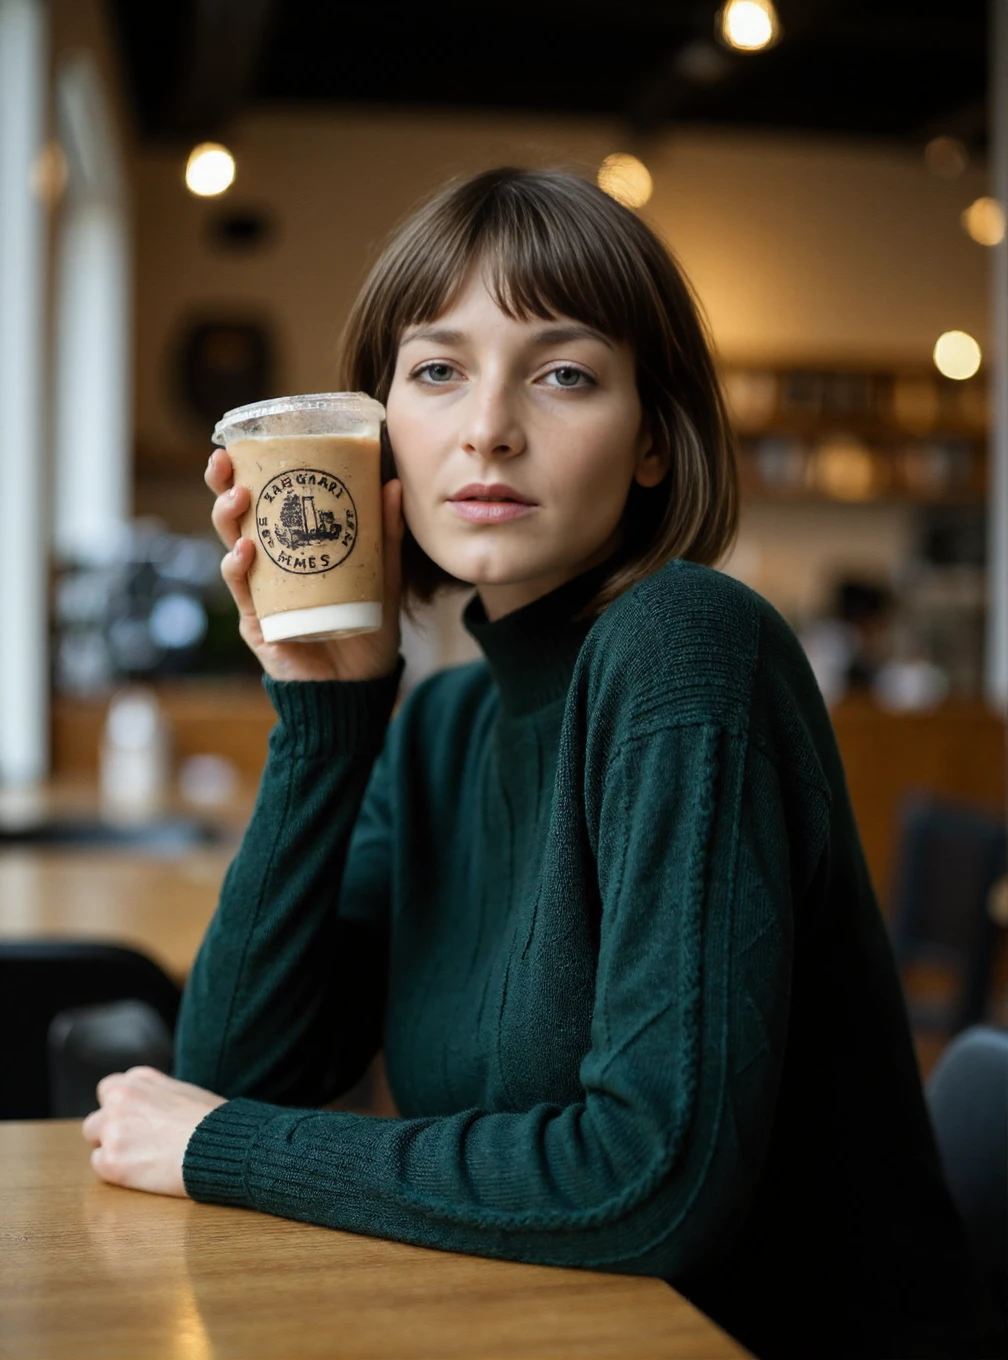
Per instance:
[[[917,1030],[956,1034],[986,1016],[994,925],[988,898],[1005,870],[1004,821],[977,808],[914,794],[903,802],[892,896],[901,968],[939,964],[956,976],[941,1004],[910,998]]]

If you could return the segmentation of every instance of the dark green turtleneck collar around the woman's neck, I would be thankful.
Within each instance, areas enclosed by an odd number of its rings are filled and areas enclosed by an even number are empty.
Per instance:
[[[479,643],[509,717],[535,713],[562,699],[590,619],[574,622],[612,571],[611,562],[589,567],[548,594],[501,619],[487,619],[479,594],[463,611],[463,626]]]

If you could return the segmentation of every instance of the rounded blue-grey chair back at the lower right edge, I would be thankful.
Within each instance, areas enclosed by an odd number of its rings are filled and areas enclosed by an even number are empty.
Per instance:
[[[960,1034],[928,1080],[928,1107],[974,1258],[1008,1321],[1008,1034]]]

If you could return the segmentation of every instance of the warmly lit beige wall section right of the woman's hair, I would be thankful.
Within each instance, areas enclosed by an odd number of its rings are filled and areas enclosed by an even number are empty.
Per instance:
[[[939,180],[914,151],[691,135],[656,158],[654,220],[726,358],[930,362],[988,335],[989,253],[959,224],[986,169]]]

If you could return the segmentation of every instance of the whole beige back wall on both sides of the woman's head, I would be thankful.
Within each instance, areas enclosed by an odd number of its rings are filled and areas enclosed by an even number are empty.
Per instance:
[[[193,460],[207,431],[181,412],[167,354],[192,310],[273,317],[287,392],[335,381],[339,330],[396,219],[448,175],[571,165],[592,171],[619,146],[605,122],[420,113],[257,113],[229,139],[238,178],[197,200],[182,156],[141,151],[136,197],[136,428],[151,453]],[[922,156],[804,137],[676,132],[649,154],[645,215],[669,239],[726,359],[917,360],[950,328],[986,339],[982,248],[959,212],[985,171],[936,180]],[[207,246],[224,204],[261,205],[278,243],[248,257]]]

